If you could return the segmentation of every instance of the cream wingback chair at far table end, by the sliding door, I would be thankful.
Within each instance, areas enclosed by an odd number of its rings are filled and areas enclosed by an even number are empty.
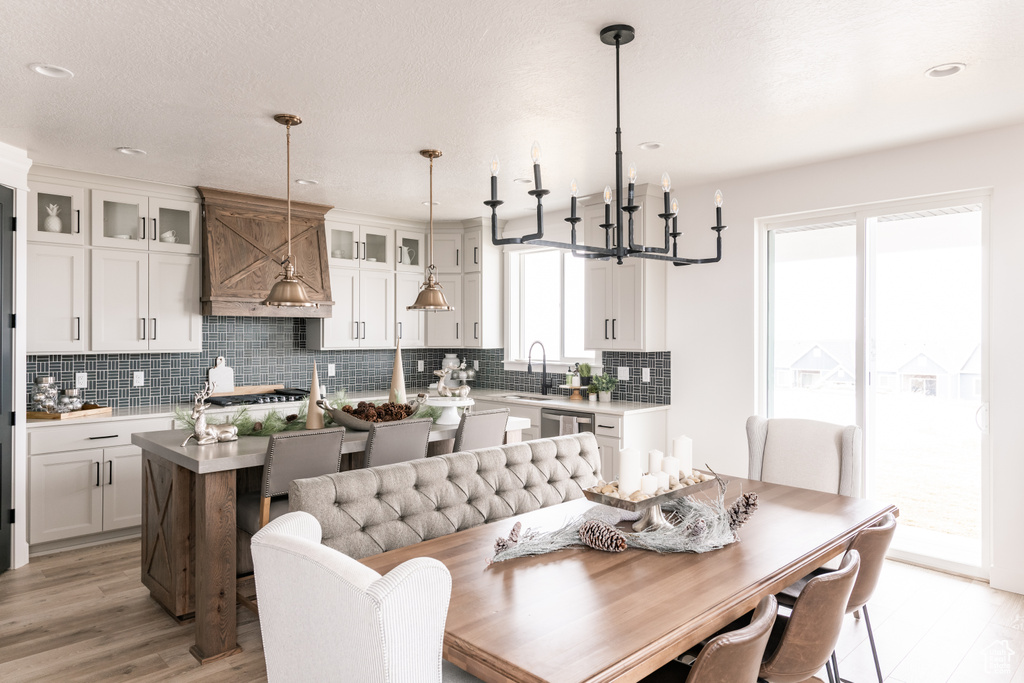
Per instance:
[[[860,495],[860,427],[757,415],[746,420],[749,478]]]

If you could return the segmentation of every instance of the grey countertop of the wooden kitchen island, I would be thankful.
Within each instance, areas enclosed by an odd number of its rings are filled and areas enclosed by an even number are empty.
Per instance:
[[[520,431],[529,428],[529,420],[510,417],[505,431]],[[428,441],[442,441],[455,438],[459,425],[438,425],[430,428]],[[155,432],[132,434],[131,442],[153,455],[160,456],[197,474],[223,472],[245,467],[259,467],[266,457],[269,440],[266,436],[241,436],[237,441],[223,441],[199,445],[189,440],[181,445],[189,434],[188,429],[168,429]],[[342,453],[360,453],[367,447],[370,432],[349,429],[345,432]]]

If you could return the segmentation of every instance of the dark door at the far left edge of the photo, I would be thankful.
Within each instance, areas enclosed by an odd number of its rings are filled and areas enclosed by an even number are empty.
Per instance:
[[[14,190],[0,185],[0,573],[11,565],[11,514],[14,495]]]

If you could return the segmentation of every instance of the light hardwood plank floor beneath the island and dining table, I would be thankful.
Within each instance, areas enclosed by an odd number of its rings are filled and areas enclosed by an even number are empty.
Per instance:
[[[1024,596],[889,562],[869,608],[887,683],[1024,683]],[[191,623],[139,582],[137,539],[33,558],[0,577],[0,681],[265,680],[259,623],[238,614],[243,652],[200,667]],[[876,680],[863,622],[838,652],[844,678]]]

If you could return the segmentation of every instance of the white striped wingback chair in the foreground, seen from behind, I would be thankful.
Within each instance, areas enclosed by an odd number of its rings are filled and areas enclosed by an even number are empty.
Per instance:
[[[285,681],[478,681],[441,659],[452,574],[430,557],[383,577],[289,512],[253,537],[266,675]]]

